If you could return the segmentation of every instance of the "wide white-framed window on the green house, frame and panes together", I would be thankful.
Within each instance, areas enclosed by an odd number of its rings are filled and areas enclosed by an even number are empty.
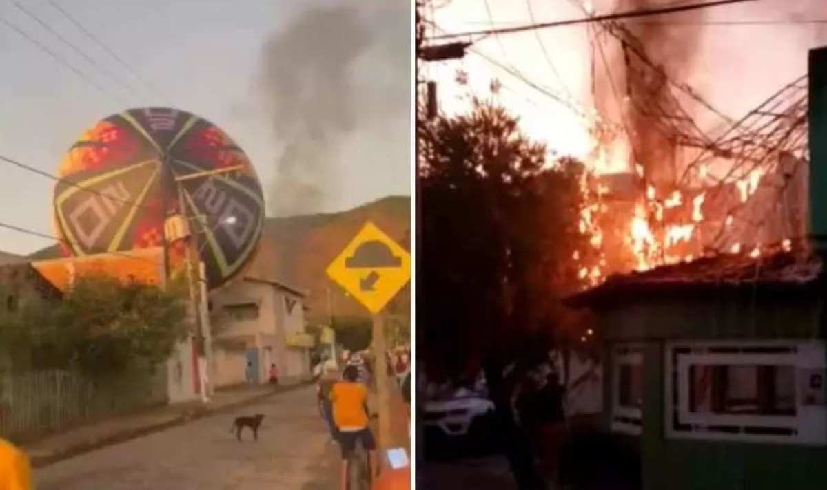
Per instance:
[[[666,354],[667,435],[827,444],[822,342],[681,342]]]

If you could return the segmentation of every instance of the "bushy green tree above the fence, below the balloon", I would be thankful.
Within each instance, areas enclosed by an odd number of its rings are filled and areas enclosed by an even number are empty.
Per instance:
[[[114,377],[167,359],[186,333],[179,294],[155,286],[84,277],[60,299],[26,302],[0,318],[0,344],[17,369],[70,369]]]

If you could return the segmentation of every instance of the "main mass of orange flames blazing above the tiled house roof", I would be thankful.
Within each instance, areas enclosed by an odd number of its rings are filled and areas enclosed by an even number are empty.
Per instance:
[[[770,253],[771,249],[748,236],[739,236],[737,242],[731,236],[745,232],[742,224],[748,228],[751,221],[741,205],[758,192],[767,172],[774,172],[770,167],[756,164],[730,177],[716,163],[716,174],[720,170],[725,176],[718,178],[710,164],[698,164],[691,170],[690,182],[667,183],[649,178],[648,167],[629,161],[628,156],[623,144],[598,143],[587,165],[589,171],[581,178],[584,204],[577,226],[588,245],[576,250],[572,259],[582,284],[600,284],[612,273],[691,262],[718,247],[723,247],[719,253],[752,259]],[[620,178],[595,182],[596,175],[618,172]],[[630,181],[633,185],[628,185]],[[614,188],[615,184],[619,187]],[[719,193],[719,189],[735,193]],[[738,226],[735,218],[739,218]],[[780,246],[790,251],[791,240],[781,241]]]

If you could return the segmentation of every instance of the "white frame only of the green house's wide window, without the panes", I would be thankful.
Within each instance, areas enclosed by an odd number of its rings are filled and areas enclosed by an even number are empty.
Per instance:
[[[783,354],[761,353],[715,353],[710,348],[767,348],[778,347],[794,350]],[[690,349],[688,354],[679,354],[676,363],[673,353],[676,349]],[[825,369],[825,344],[820,340],[728,340],[728,341],[673,341],[667,342],[664,350],[664,392],[666,434],[674,439],[732,440],[747,442],[768,442],[780,444],[827,445],[827,406],[807,406],[802,402],[801,375],[808,369]],[[676,365],[675,365],[676,364]],[[795,368],[796,415],[753,415],[693,413],[689,408],[691,365],[770,365],[792,366]],[[677,370],[677,407],[674,406],[673,371]],[[676,428],[673,417],[691,430]],[[739,427],[739,432],[717,431],[710,426]],[[744,428],[789,429],[789,435],[746,433]]]

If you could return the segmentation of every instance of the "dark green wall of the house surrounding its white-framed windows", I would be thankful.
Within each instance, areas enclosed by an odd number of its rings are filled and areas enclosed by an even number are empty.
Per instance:
[[[754,292],[716,301],[630,302],[599,316],[605,356],[619,342],[643,344],[643,430],[628,437],[642,455],[647,489],[774,490],[827,488],[827,448],[782,443],[686,440],[666,434],[667,340],[811,339],[820,333],[820,300],[760,297]],[[613,399],[612,366],[605,362],[605,428]]]

